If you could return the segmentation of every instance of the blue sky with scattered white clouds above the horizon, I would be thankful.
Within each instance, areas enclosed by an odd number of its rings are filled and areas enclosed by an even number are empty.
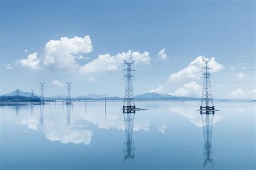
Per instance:
[[[255,98],[254,1],[3,1],[1,92],[200,97],[201,56],[213,98]]]

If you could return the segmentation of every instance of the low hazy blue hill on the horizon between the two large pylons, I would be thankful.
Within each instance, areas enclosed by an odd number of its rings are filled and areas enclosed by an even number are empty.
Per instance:
[[[134,97],[136,100],[200,100],[193,97],[178,97],[170,94],[145,93]]]

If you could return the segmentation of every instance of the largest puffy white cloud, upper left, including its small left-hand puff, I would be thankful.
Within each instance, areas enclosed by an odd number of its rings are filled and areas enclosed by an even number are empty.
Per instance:
[[[38,53],[33,53],[27,59],[18,60],[17,63],[28,66],[31,69],[35,69],[40,65],[73,71],[79,67],[76,60],[83,59],[83,54],[91,52],[92,49],[89,36],[62,37],[60,40],[50,40],[46,43],[40,58]]]

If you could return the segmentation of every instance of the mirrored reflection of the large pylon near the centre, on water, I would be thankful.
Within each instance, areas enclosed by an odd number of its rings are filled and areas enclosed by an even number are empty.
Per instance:
[[[126,110],[124,114],[124,125],[125,125],[125,135],[126,141],[124,142],[124,162],[126,160],[134,160],[134,141],[132,140],[133,133],[133,123],[135,111]]]

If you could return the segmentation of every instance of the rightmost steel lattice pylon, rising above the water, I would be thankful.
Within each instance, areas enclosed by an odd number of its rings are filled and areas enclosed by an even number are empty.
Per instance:
[[[214,110],[213,100],[212,100],[212,88],[211,88],[211,81],[210,81],[210,72],[208,63],[211,61],[211,59],[206,59],[202,57],[204,66],[202,69],[204,69],[203,73],[203,91],[202,91],[202,98],[201,98],[201,106],[200,110],[205,108],[205,110]],[[209,104],[211,103],[211,106]],[[205,106],[203,106],[205,104]]]

